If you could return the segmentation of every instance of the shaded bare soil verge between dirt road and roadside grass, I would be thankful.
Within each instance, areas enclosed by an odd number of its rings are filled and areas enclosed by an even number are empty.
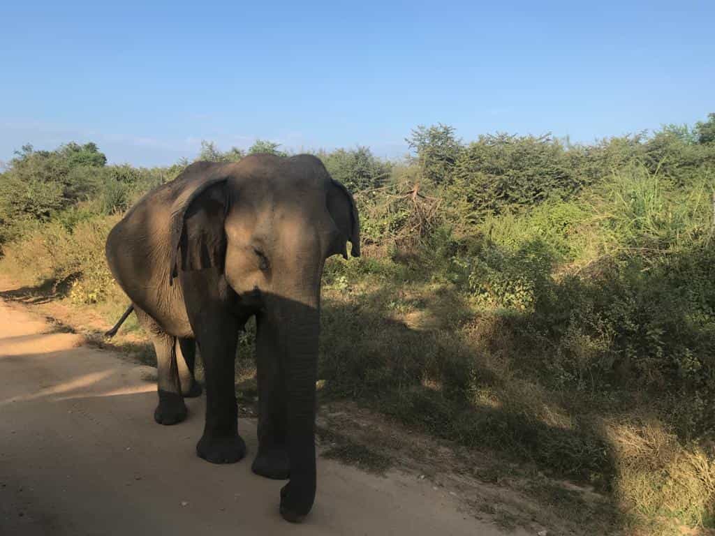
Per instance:
[[[477,520],[535,535],[618,534],[608,497],[590,487],[420,434],[353,402],[323,405],[317,426],[324,447],[337,448],[344,462],[383,474],[398,468]]]

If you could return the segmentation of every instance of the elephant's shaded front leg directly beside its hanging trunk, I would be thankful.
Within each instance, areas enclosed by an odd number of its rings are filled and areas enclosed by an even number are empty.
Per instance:
[[[256,319],[256,363],[258,377],[258,454],[251,469],[263,477],[290,477],[287,451],[285,389],[282,381],[277,334]]]

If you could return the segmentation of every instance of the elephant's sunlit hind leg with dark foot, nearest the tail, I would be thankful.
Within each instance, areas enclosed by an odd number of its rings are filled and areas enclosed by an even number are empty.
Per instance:
[[[175,425],[186,419],[187,409],[182,396],[177,364],[176,337],[159,327],[147,313],[135,307],[139,323],[149,332],[154,351],[157,352],[157,390],[159,405],[154,410],[154,420],[159,425]]]

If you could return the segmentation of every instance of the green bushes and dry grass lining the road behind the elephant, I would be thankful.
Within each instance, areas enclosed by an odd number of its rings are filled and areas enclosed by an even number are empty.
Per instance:
[[[322,395],[591,484],[614,526],[715,527],[714,132],[715,114],[588,145],[438,124],[399,161],[317,152],[363,231],[363,257],[325,269]],[[117,314],[104,238],[186,164],[23,147],[0,175],[0,269]]]

